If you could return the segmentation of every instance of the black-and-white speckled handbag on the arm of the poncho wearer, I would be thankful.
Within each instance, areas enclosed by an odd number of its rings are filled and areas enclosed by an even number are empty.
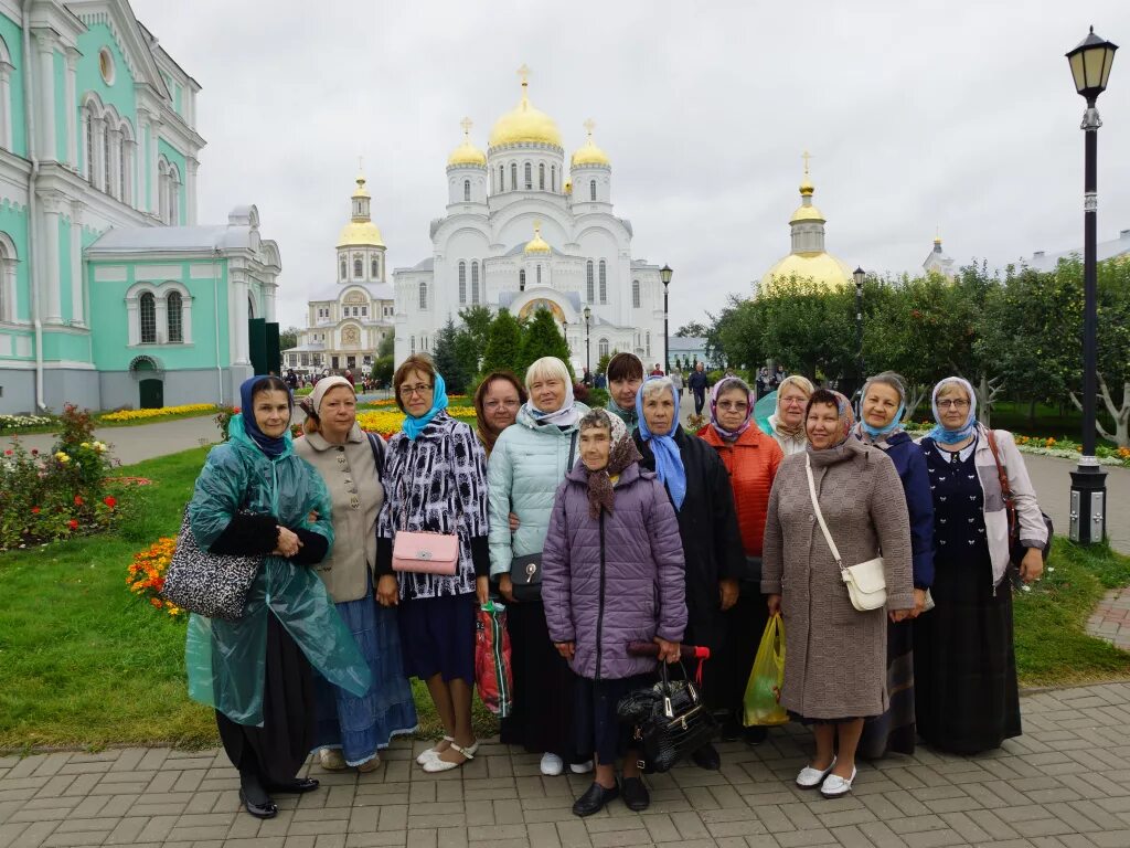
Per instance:
[[[262,556],[234,556],[201,550],[192,535],[185,507],[160,596],[207,618],[238,621],[262,561]]]

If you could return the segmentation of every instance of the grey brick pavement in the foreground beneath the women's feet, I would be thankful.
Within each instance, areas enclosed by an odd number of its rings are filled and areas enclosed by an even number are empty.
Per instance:
[[[1000,751],[892,756],[861,768],[853,795],[836,801],[792,785],[810,736],[790,725],[755,750],[721,745],[721,772],[650,779],[645,814],[615,802],[586,820],[570,807],[588,778],[542,778],[536,755],[497,744],[444,775],[411,762],[421,742],[394,746],[370,775],[311,765],[322,787],[280,798],[268,822],[240,811],[223,752],[8,756],[0,848],[1130,846],[1130,684],[1028,694],[1023,710],[1025,735]]]

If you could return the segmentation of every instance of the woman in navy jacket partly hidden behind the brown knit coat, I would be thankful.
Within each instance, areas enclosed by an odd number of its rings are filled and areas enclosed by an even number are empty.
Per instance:
[[[861,417],[853,433],[863,444],[883,450],[895,464],[903,483],[911,522],[914,571],[914,609],[922,613],[933,583],[933,497],[922,450],[903,430],[906,390],[902,378],[885,371],[863,384]],[[881,716],[867,719],[859,754],[876,760],[888,751],[914,753],[914,654],[909,621],[887,623],[887,691],[890,706]]]

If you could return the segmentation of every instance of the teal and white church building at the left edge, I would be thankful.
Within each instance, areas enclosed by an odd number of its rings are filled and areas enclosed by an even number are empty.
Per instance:
[[[125,0],[0,0],[0,413],[237,403],[277,367],[258,209],[197,223],[199,92]]]

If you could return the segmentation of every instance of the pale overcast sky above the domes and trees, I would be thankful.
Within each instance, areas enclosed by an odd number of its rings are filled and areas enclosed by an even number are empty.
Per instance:
[[[1099,241],[1130,228],[1128,0],[132,6],[202,86],[199,220],[258,205],[284,326],[334,279],[358,156],[390,267],[431,254],[459,121],[485,149],[523,62],[566,156],[597,122],[633,256],[675,269],[672,331],[789,252],[805,149],[850,267],[918,271],[936,227],[959,263],[1078,248],[1085,104],[1063,53],[1092,24],[1125,45],[1098,101]]]

